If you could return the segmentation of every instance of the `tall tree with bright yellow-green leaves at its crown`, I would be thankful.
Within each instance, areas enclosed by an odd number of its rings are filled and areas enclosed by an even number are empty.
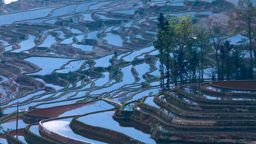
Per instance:
[[[164,31],[162,39],[164,41],[166,49],[166,56],[169,56],[169,53],[172,52],[173,61],[174,61],[174,72],[172,72],[172,79],[175,84],[177,83],[178,77],[180,79],[180,84],[184,84],[185,79],[185,68],[186,62],[184,61],[186,52],[191,52],[195,43],[193,34],[195,33],[195,26],[192,25],[192,15],[183,14],[183,17],[174,17],[169,20],[169,25]],[[188,46],[190,45],[190,46]],[[168,63],[169,64],[169,63]],[[169,68],[170,66],[167,66]],[[177,67],[179,69],[177,69]],[[169,74],[169,72],[168,72]],[[169,77],[169,76],[168,76]]]

